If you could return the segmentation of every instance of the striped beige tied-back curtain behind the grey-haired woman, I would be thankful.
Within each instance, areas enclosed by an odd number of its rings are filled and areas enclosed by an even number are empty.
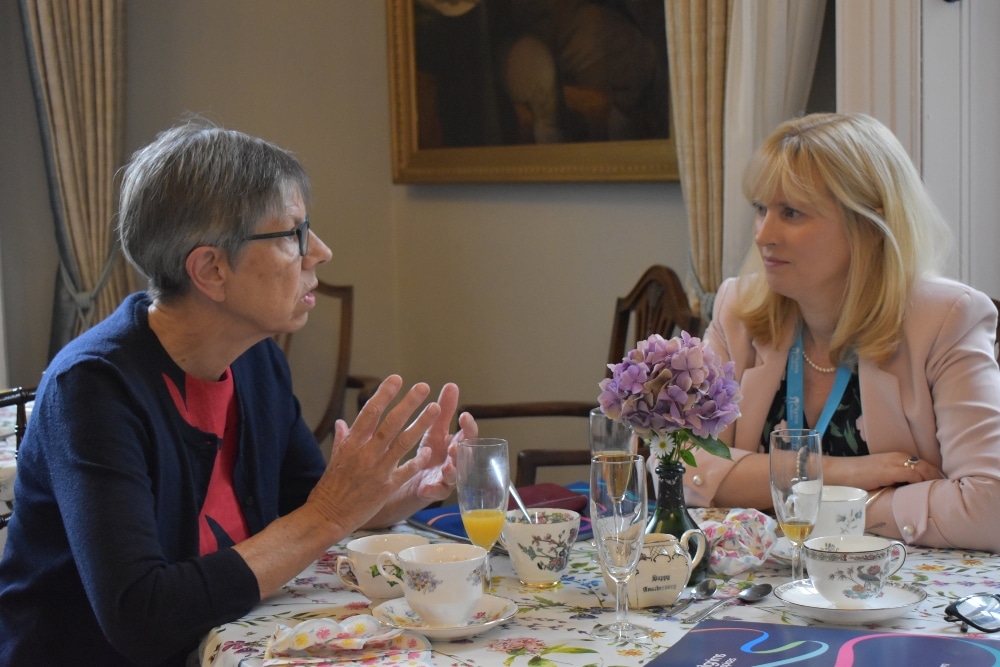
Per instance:
[[[124,0],[20,0],[59,248],[50,354],[135,288],[115,238]]]

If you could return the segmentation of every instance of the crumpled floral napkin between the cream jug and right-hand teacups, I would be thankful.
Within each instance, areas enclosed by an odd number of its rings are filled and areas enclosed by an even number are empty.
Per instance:
[[[722,521],[700,525],[708,539],[709,569],[735,575],[758,567],[767,560],[778,541],[777,522],[755,509],[732,509]]]

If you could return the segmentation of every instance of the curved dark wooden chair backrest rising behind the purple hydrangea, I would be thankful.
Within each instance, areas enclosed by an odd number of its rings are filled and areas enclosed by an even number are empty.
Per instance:
[[[684,330],[700,336],[701,329],[680,278],[670,267],[654,264],[615,303],[608,363],[618,363],[639,340],[654,333],[670,338]]]

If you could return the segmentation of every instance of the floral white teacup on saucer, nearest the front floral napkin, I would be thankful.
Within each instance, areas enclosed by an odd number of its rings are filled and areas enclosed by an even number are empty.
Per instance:
[[[483,598],[486,549],[474,544],[425,544],[383,551],[379,572],[403,584],[410,609],[428,627],[455,627],[472,618]],[[396,572],[402,576],[397,576]]]

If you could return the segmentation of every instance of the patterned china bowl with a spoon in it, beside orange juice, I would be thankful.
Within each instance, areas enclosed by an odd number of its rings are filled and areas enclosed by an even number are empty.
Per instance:
[[[580,533],[580,515],[549,507],[529,509],[528,515],[531,523],[521,510],[507,512],[500,542],[522,584],[555,586],[569,567],[569,552]]]

